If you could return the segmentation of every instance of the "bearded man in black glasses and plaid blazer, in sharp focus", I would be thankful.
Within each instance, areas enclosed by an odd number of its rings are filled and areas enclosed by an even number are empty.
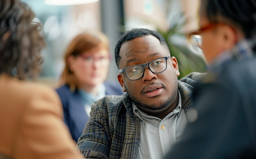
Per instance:
[[[92,105],[77,144],[85,158],[160,159],[180,139],[189,120],[191,91],[202,74],[178,81],[178,63],[159,33],[135,28],[115,48],[124,96]]]

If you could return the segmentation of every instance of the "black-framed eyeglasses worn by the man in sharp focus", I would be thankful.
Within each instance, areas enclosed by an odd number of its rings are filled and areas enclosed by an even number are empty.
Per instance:
[[[167,59],[170,59],[170,56],[160,57],[141,65],[132,65],[127,68],[119,70],[119,72],[125,72],[126,76],[130,80],[137,80],[144,75],[144,67],[146,66],[148,66],[148,69],[153,73],[164,72],[167,68]]]

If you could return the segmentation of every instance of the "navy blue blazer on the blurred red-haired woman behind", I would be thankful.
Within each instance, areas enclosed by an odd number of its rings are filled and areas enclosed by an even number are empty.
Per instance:
[[[121,86],[117,83],[105,82],[104,85],[106,87],[106,95],[124,94]],[[70,130],[72,138],[77,142],[78,138],[83,133],[85,124],[89,120],[84,109],[83,98],[77,90],[72,93],[68,85],[63,85],[56,89],[56,91],[63,105],[64,121]]]

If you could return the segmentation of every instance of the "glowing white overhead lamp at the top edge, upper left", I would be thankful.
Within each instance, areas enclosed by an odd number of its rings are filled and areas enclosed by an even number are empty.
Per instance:
[[[57,5],[57,6],[87,4],[87,3],[93,3],[98,1],[99,0],[44,0],[45,4],[47,5]]]

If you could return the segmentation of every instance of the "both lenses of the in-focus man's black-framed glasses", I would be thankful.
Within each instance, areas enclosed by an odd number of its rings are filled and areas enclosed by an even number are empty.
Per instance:
[[[149,63],[149,69],[154,73],[163,72],[166,69],[166,59],[160,58]],[[142,65],[135,65],[126,69],[126,74],[131,80],[137,80],[143,76],[144,68]]]

